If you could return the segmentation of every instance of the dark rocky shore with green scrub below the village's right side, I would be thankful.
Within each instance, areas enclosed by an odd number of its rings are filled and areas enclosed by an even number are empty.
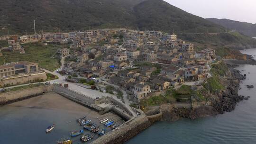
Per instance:
[[[248,98],[238,95],[239,83],[241,80],[246,79],[246,75],[241,75],[239,71],[229,65],[229,71],[225,77],[221,79],[225,83],[226,89],[221,90],[219,93],[208,93],[208,97],[212,98],[209,104],[196,105],[192,107],[177,107],[175,104],[164,104],[158,107],[162,111],[162,121],[176,121],[181,117],[196,119],[199,117],[215,116],[230,112],[235,109],[238,102]],[[157,109],[157,108],[155,108]]]

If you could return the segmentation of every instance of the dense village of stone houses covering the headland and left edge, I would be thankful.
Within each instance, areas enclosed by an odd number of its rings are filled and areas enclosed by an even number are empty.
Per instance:
[[[195,51],[192,43],[161,31],[99,29],[14,35],[1,37],[1,40],[8,40],[9,45],[1,51],[19,51],[20,54],[26,53],[22,46],[26,43],[65,44],[54,54],[62,65],[56,72],[65,75],[65,81],[80,82],[89,89],[116,94],[119,99],[125,95],[135,103],[155,92],[183,84],[196,85],[211,76],[210,63],[218,59],[213,49],[205,47]],[[33,80],[29,82],[46,81],[41,71],[38,63],[5,63],[0,66],[0,86],[23,84],[27,82],[24,79],[30,77]],[[21,77],[26,73],[28,78]]]

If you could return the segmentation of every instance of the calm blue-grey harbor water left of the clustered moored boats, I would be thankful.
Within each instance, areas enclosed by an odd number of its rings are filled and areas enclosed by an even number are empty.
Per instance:
[[[81,126],[75,117],[83,117],[60,109],[0,107],[0,144],[56,144],[57,140],[70,138],[72,130]],[[56,126],[46,134],[47,126]],[[77,144],[79,136],[72,139]]]

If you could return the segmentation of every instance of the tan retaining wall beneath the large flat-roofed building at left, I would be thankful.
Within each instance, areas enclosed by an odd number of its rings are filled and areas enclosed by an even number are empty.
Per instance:
[[[46,72],[41,73],[35,73],[35,74],[27,74],[24,76],[17,76],[15,78],[7,78],[0,81],[0,87],[3,87],[5,85],[17,85],[17,84],[23,84],[31,82],[37,82],[37,81],[45,81],[47,79]]]

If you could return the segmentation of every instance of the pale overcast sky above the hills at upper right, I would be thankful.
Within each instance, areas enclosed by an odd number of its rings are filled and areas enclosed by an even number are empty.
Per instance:
[[[256,0],[165,0],[202,18],[228,18],[256,23]]]

